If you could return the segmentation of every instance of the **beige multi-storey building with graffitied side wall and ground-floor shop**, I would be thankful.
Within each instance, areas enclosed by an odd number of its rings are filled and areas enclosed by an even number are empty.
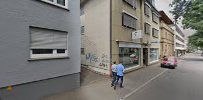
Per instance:
[[[113,61],[131,71],[159,59],[159,12],[150,0],[81,0],[82,64],[109,74]],[[143,52],[144,48],[144,52]],[[144,58],[143,58],[144,55]]]

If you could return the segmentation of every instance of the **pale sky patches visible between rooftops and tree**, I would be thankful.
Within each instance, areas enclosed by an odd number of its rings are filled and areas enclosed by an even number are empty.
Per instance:
[[[171,18],[171,20],[173,20],[173,16],[171,13],[169,13],[170,11],[170,7],[169,4],[173,1],[173,0],[155,0],[156,1],[156,8],[160,11],[163,10],[168,16],[169,18]],[[181,26],[181,24],[179,24],[178,26],[180,26],[180,28],[183,30],[183,33],[185,34],[186,37],[192,35],[194,33],[193,30],[189,30],[189,29],[183,29]]]

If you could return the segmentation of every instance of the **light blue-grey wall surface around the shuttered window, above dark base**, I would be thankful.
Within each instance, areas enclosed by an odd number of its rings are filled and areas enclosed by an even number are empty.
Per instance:
[[[79,4],[69,0],[68,11],[40,0],[0,1],[0,88],[80,72]],[[28,61],[30,26],[67,31],[69,59]]]

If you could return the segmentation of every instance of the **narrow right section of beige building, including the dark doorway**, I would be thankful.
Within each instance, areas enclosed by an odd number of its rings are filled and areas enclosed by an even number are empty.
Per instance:
[[[144,13],[142,13],[143,25],[143,64],[157,63],[160,57],[160,31],[159,12],[155,8],[154,0],[145,0]]]

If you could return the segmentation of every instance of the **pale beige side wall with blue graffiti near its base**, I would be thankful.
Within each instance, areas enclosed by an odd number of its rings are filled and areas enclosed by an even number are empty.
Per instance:
[[[109,74],[110,66],[110,0],[90,0],[84,6],[81,24],[85,27],[82,35],[82,64],[87,68]]]

